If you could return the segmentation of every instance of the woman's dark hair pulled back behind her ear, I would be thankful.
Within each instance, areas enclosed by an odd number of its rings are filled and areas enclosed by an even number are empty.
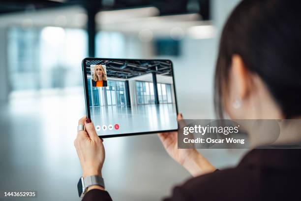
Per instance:
[[[223,29],[215,71],[215,108],[222,118],[232,56],[266,84],[285,118],[301,115],[300,0],[242,0]]]

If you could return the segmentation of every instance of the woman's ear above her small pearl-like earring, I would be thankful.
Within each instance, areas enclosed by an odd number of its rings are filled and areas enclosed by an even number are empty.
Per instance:
[[[233,84],[236,89],[235,91],[236,93],[238,93],[236,94],[236,96],[243,100],[244,98],[246,98],[250,90],[250,74],[247,68],[245,67],[240,55],[235,54],[232,56],[231,68],[231,79],[233,80]]]

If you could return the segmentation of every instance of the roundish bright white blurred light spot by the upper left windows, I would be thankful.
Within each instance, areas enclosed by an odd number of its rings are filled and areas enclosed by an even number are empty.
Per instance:
[[[61,27],[45,27],[41,32],[42,39],[45,41],[57,44],[60,43],[65,37],[65,31]]]

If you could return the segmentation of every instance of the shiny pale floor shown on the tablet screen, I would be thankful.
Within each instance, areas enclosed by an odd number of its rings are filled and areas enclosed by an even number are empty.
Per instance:
[[[98,135],[131,134],[149,131],[176,130],[176,104],[143,104],[90,107],[95,127],[100,126]],[[118,124],[116,130],[114,126]],[[112,126],[112,130],[108,126]]]

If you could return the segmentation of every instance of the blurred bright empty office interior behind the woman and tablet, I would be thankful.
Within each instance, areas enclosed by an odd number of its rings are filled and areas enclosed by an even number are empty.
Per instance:
[[[0,4],[0,190],[79,200],[73,140],[85,115],[83,58],[171,59],[179,110],[214,118],[218,41],[239,0],[10,0]],[[105,139],[113,200],[151,201],[190,175],[156,134]],[[218,168],[246,150],[199,150]],[[36,199],[35,199],[36,200]]]

